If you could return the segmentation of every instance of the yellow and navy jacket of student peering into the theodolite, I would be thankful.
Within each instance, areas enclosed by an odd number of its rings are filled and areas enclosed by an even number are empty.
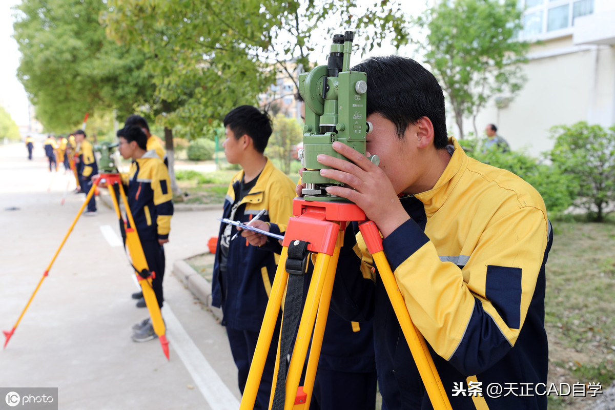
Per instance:
[[[552,232],[544,202],[518,176],[450,143],[450,163],[435,186],[401,199],[411,219],[384,239],[384,252],[453,409],[546,409],[546,395],[486,394],[490,384],[547,381],[544,293]],[[348,229],[344,238],[333,309],[347,320],[373,317],[387,408],[431,409],[358,232]],[[482,396],[462,393],[470,382],[482,386]]]

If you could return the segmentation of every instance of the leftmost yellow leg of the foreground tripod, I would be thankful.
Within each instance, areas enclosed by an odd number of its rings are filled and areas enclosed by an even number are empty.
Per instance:
[[[265,368],[267,353],[271,345],[271,338],[276,328],[277,315],[280,311],[280,306],[282,306],[282,297],[284,296],[284,291],[288,282],[288,272],[285,268],[287,257],[288,248],[284,246],[280,254],[280,261],[277,264],[276,277],[274,277],[273,285],[271,286],[271,294],[269,294],[269,301],[265,309],[261,331],[258,334],[258,341],[256,342],[254,356],[250,364],[250,372],[248,373],[244,395],[242,396],[241,406],[239,407],[240,410],[252,410],[256,402],[256,393],[258,393],[258,386],[261,382],[261,376],[263,376],[263,369]],[[276,363],[276,369],[277,365],[278,363]],[[275,381],[276,378],[274,377],[274,384]],[[274,389],[275,385],[272,392],[275,391]]]

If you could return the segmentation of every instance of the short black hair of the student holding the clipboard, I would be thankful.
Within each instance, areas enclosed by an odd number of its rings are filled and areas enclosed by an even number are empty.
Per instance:
[[[237,140],[244,134],[250,136],[254,148],[261,154],[267,148],[271,125],[269,114],[251,105],[234,108],[224,117],[224,127],[228,126]]]

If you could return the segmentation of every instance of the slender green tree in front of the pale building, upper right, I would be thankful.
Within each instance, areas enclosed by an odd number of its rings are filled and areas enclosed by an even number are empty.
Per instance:
[[[516,40],[522,28],[517,0],[440,1],[416,19],[429,33],[419,50],[448,95],[464,137],[463,119],[476,116],[493,97],[513,98],[523,87],[529,45]]]

